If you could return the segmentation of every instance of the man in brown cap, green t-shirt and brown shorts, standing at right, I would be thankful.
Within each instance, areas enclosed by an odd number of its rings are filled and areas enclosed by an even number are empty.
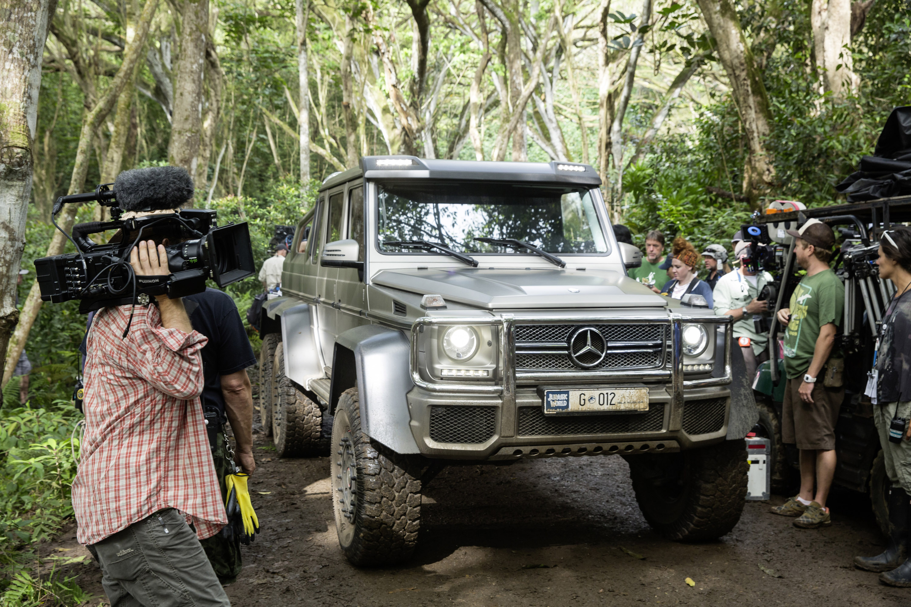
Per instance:
[[[832,520],[825,499],[835,472],[835,422],[844,388],[825,388],[823,369],[844,313],[844,285],[829,268],[835,236],[832,228],[810,219],[796,238],[794,255],[806,276],[794,289],[790,308],[778,310],[784,329],[782,439],[800,450],[800,493],[775,514],[799,517],[794,526],[813,529]],[[815,486],[815,492],[814,492]]]

